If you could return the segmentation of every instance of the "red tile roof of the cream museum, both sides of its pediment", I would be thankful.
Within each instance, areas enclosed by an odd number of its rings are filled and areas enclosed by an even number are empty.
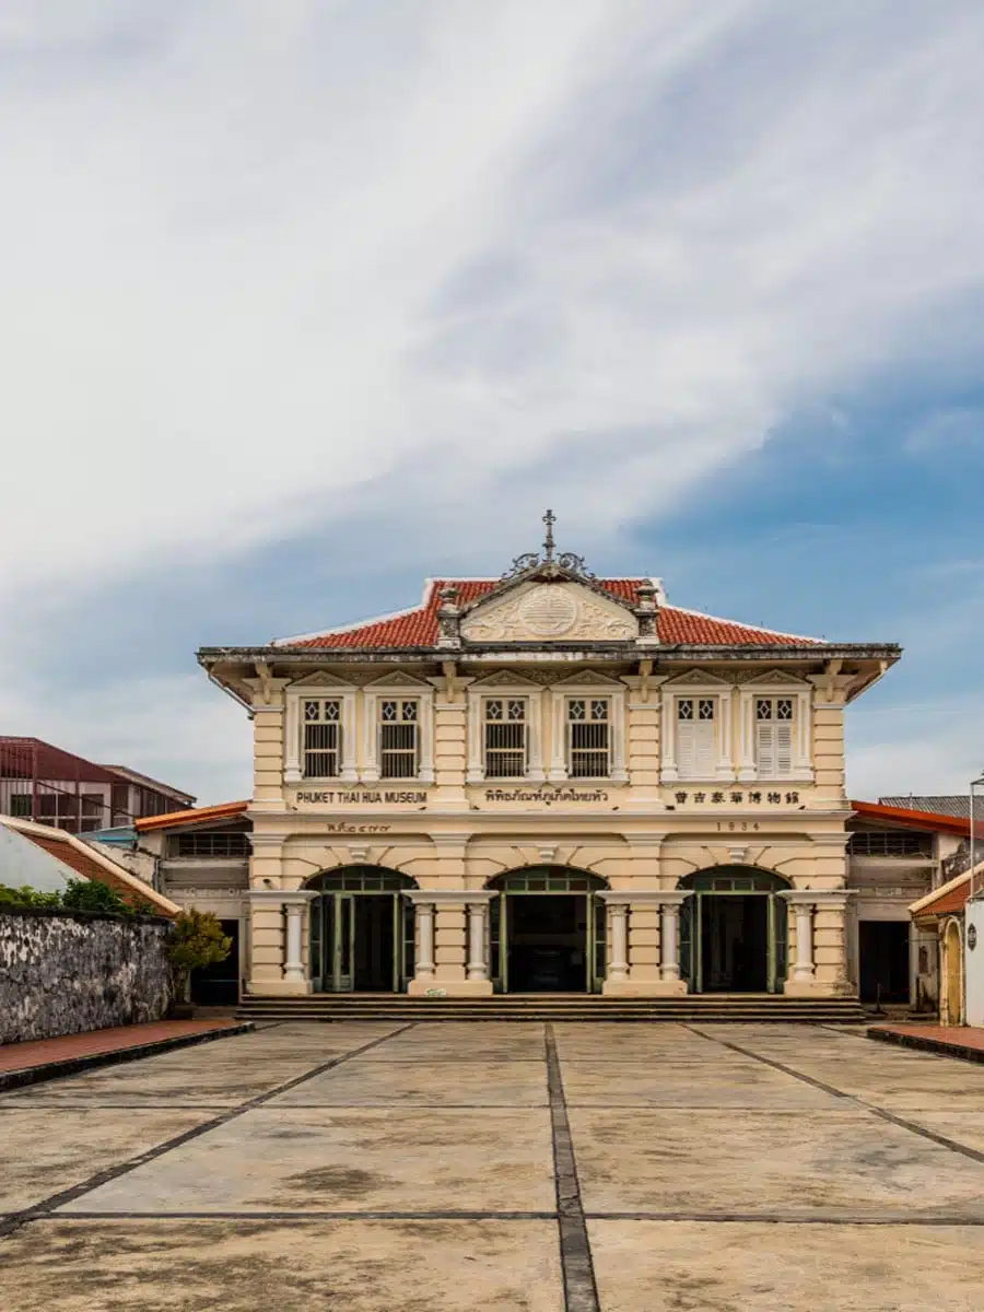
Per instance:
[[[644,579],[600,579],[598,584],[618,597],[619,601],[635,602],[636,589]],[[437,644],[437,611],[441,605],[440,592],[445,583],[458,589],[458,604],[484,597],[499,586],[497,579],[432,579],[424,602],[409,610],[383,615],[365,625],[329,628],[321,634],[304,638],[281,639],[277,647],[434,647]],[[680,610],[676,606],[661,606],[656,628],[659,639],[665,644],[694,644],[707,647],[731,646],[770,646],[799,647],[803,643],[816,643],[816,638],[798,638],[795,634],[781,634],[771,628],[754,628],[732,619],[718,619],[697,610]]]

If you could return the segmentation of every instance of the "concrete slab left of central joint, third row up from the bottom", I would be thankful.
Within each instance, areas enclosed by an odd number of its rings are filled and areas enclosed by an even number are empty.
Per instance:
[[[546,1061],[367,1061],[306,1080],[272,1105],[546,1107]]]

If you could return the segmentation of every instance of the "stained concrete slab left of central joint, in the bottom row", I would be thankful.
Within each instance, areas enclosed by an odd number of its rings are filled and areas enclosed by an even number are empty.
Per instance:
[[[552,1221],[45,1221],[4,1312],[563,1312]]]

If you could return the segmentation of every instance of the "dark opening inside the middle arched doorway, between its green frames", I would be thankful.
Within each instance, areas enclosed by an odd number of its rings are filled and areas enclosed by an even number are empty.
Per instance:
[[[535,893],[509,899],[509,991],[567,993],[588,988],[588,897]]]

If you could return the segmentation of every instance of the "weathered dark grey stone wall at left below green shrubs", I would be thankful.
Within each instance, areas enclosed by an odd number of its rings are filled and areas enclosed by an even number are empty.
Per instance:
[[[171,922],[0,911],[0,1043],[159,1021],[171,1001]]]

